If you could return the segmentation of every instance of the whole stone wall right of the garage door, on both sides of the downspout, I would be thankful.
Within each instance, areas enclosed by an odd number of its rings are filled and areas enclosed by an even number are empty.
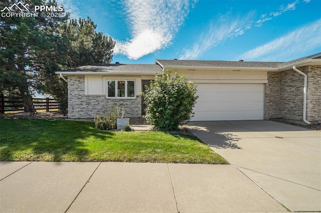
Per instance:
[[[307,74],[306,119],[321,121],[321,66],[303,66],[299,70]],[[303,118],[304,77],[293,69],[268,72],[265,85],[265,119]]]

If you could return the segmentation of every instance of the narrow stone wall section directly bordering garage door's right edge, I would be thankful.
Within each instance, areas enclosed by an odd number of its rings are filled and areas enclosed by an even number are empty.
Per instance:
[[[265,84],[264,119],[280,117],[280,73],[267,72]]]

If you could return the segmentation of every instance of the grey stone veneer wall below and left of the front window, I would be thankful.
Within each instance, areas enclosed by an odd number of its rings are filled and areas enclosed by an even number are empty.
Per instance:
[[[85,95],[85,76],[68,76],[68,117],[93,118],[108,114],[113,104],[125,109],[124,117],[141,116],[141,97],[107,99],[105,95]]]

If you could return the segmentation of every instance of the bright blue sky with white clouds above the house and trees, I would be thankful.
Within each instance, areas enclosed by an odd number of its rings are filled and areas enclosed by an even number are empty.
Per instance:
[[[321,51],[321,0],[57,1],[117,41],[112,62],[289,61]]]

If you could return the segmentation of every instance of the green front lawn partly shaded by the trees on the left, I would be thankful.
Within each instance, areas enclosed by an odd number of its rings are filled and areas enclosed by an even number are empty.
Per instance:
[[[0,119],[0,161],[228,163],[197,137],[103,131],[92,122]]]

